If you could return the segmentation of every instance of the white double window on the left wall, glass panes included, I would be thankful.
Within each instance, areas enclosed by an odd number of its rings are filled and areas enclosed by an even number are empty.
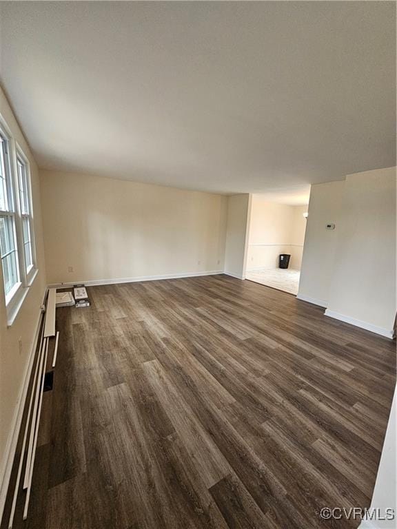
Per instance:
[[[11,324],[35,267],[30,168],[0,116],[0,256],[8,324]]]

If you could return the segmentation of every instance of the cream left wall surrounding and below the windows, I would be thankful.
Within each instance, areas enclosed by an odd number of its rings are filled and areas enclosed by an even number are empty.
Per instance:
[[[0,88],[0,114],[8,125],[14,139],[28,157],[32,176],[32,202],[34,214],[34,232],[36,238],[37,267],[39,273],[28,291],[23,305],[10,328],[7,327],[6,305],[2,269],[0,267],[0,486],[6,470],[11,436],[17,418],[17,409],[21,397],[21,388],[28,367],[30,352],[34,340],[40,306],[45,293],[45,264],[43,251],[43,230],[41,226],[41,206],[39,174],[32,153],[12,114],[10,105]],[[22,348],[19,351],[19,338]],[[3,488],[1,488],[1,494]],[[1,513],[1,505],[0,505]]]

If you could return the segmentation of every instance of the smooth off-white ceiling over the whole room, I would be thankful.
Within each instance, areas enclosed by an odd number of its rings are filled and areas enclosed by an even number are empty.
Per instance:
[[[40,167],[236,193],[395,165],[394,2],[0,2]]]

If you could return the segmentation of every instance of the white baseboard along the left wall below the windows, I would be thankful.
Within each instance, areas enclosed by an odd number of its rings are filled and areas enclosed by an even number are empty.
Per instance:
[[[32,373],[34,352],[36,351],[37,340],[39,339],[40,323],[41,313],[39,314],[39,318],[37,319],[32,349],[29,353],[28,363],[26,364],[25,372],[23,373],[23,382],[19,390],[17,405],[15,406],[14,417],[12,417],[11,431],[10,435],[8,436],[8,442],[4,455],[5,464],[0,475],[0,520],[3,517],[4,504],[6,503],[8,486],[10,484],[12,465],[14,464],[15,451],[17,450],[19,431],[21,429],[23,410],[25,408],[26,402],[26,394],[28,393],[30,375]]]

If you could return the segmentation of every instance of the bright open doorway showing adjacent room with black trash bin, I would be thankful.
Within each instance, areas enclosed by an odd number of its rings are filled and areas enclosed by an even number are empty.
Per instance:
[[[308,204],[309,190],[252,195],[246,279],[298,293]]]

